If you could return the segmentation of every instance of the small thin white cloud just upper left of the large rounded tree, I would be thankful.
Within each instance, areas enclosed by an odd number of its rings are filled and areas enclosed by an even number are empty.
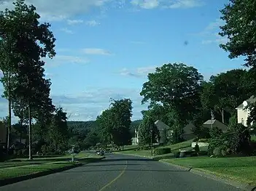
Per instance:
[[[137,68],[136,70],[128,70],[127,68],[123,68],[123,70],[120,71],[120,75],[123,76],[132,76],[137,78],[144,78],[147,77],[149,73],[154,73],[155,68],[157,66],[150,66],[150,67],[144,67],[144,68]]]

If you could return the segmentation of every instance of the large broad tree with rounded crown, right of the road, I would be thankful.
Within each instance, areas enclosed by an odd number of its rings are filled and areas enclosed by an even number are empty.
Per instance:
[[[142,103],[160,102],[168,110],[175,110],[175,117],[184,125],[198,112],[203,81],[198,70],[183,63],[165,64],[147,77],[141,91]]]

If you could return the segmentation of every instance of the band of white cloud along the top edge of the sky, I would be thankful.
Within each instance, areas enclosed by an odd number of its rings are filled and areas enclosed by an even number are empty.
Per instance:
[[[12,1],[1,0],[0,10],[12,9]],[[204,0],[131,0],[130,4],[141,9],[157,7],[173,9],[198,7],[202,5],[201,1]],[[42,20],[47,22],[70,20],[71,17],[88,13],[90,9],[95,9],[101,16],[106,15],[109,9],[129,9],[128,1],[125,0],[27,0],[26,3],[33,4]],[[72,21],[68,23],[72,23]]]

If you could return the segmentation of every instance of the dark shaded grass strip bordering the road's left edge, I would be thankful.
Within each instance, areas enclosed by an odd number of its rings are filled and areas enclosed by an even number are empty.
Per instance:
[[[71,168],[76,168],[76,167],[79,167],[79,166],[84,166],[85,164],[88,164],[88,163],[97,162],[98,160],[101,160],[103,158],[105,158],[105,157],[94,158],[93,160],[90,160],[89,162],[77,163],[77,164],[74,164],[72,166],[64,166],[64,167],[61,167],[61,168],[55,168],[55,169],[51,169],[51,170],[48,170],[48,171],[42,171],[42,172],[34,173],[34,174],[27,174],[27,175],[17,176],[17,177],[13,177],[13,178],[9,178],[9,179],[3,179],[3,180],[0,181],[0,187],[5,186],[7,184],[14,184],[16,182],[22,182],[22,181],[27,180],[27,179],[34,179],[34,178],[38,178],[40,176],[47,176],[49,174],[55,174],[55,173],[58,173],[58,172],[61,172],[61,171],[67,171]]]

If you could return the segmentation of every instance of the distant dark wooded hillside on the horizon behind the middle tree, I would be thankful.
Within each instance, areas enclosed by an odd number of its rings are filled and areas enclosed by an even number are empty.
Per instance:
[[[134,130],[139,127],[141,120],[131,122],[131,135],[134,137]],[[68,121],[69,129],[74,129],[78,132],[88,132],[91,128],[96,126],[96,121]]]

